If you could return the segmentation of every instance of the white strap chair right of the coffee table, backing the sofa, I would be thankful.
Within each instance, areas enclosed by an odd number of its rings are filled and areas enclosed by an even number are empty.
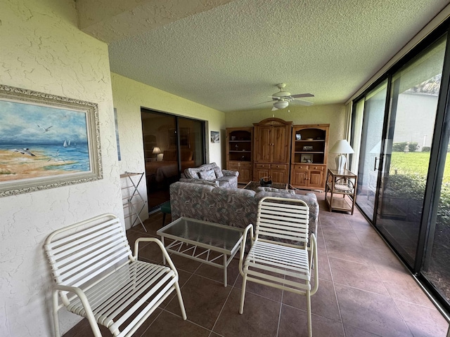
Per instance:
[[[239,313],[244,310],[247,281],[299,293],[307,296],[307,328],[312,336],[310,297],[319,287],[319,272],[316,237],[314,233],[309,236],[308,220],[309,208],[302,200],[264,197],[259,201],[255,237],[253,226],[248,225],[240,249],[239,272],[243,283]],[[244,260],[249,230],[252,246]]]

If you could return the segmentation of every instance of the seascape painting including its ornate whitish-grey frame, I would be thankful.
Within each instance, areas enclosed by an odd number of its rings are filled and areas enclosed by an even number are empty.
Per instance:
[[[95,103],[0,84],[0,197],[101,178]]]

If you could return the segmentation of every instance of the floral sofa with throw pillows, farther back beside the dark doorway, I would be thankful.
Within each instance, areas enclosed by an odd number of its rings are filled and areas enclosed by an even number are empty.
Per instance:
[[[210,182],[206,185],[238,188],[238,176],[238,171],[222,170],[216,163],[210,163],[184,170],[184,177],[180,181],[198,183],[198,180],[203,180]]]

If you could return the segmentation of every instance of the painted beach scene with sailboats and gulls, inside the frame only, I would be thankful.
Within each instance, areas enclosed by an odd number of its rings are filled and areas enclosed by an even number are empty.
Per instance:
[[[86,112],[0,100],[0,183],[89,171]]]

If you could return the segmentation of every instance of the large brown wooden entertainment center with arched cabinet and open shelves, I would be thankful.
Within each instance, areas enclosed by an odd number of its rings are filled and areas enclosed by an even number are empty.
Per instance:
[[[293,125],[267,118],[253,127],[226,129],[226,168],[239,183],[272,180],[325,190],[329,124]]]

